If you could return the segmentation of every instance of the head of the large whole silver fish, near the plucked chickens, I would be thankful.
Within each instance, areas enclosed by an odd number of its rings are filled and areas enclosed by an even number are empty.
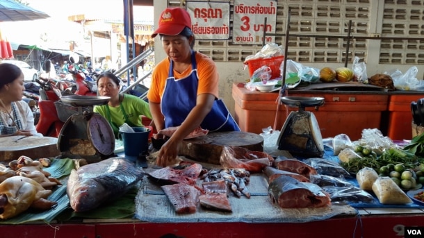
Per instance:
[[[98,207],[106,198],[108,191],[93,178],[75,183],[68,192],[70,205],[75,212],[85,212]]]

